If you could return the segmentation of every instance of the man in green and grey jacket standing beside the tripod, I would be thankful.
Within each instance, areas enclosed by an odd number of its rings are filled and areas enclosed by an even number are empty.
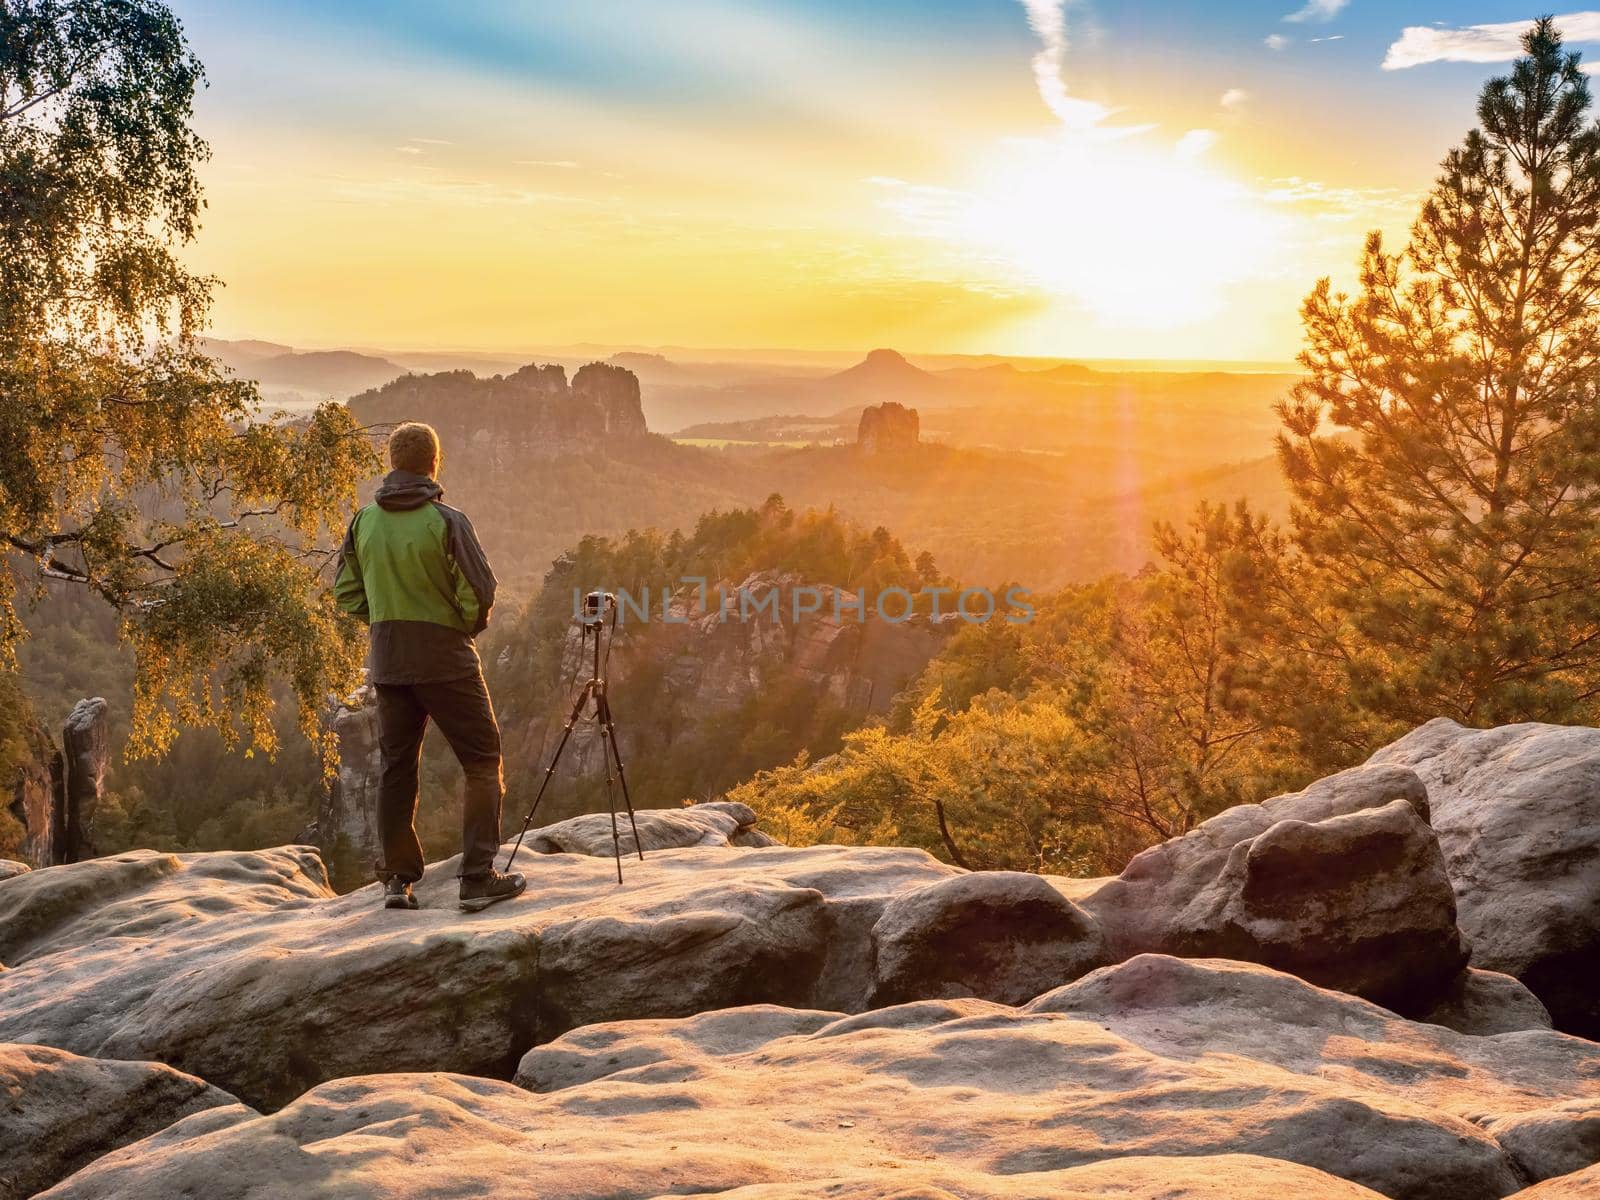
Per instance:
[[[494,869],[501,821],[499,725],[483,685],[477,637],[494,605],[494,573],[472,522],[440,504],[438,434],[406,422],[389,435],[389,464],[376,502],[355,514],[334,598],[370,626],[368,680],[378,691],[378,834],[386,909],[414,909],[422,878],[416,840],[418,763],[427,722],[454,750],[467,778],[461,813],[461,907],[477,912],[522,893],[522,875]]]

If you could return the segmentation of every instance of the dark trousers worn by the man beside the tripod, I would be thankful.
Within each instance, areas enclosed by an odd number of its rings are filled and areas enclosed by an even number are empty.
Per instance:
[[[378,746],[384,760],[378,786],[378,835],[384,861],[379,877],[406,883],[422,878],[422,843],[416,840],[416,771],[427,722],[438,723],[467,776],[461,810],[461,874],[483,875],[499,850],[499,725],[482,672],[448,683],[379,683]]]

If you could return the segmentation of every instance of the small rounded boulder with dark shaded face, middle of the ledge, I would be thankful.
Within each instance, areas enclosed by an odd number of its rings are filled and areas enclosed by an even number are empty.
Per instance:
[[[974,995],[1018,1005],[1107,962],[1093,917],[1013,870],[907,891],[883,909],[872,946],[874,1003]]]

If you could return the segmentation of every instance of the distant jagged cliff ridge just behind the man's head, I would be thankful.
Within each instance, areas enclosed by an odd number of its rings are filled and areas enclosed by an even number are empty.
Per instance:
[[[566,381],[557,365],[530,363],[480,379],[470,371],[408,374],[350,400],[363,424],[427,421],[453,453],[475,467],[506,467],[533,456],[565,454],[606,440],[645,437],[645,411],[632,371],[589,363]]]

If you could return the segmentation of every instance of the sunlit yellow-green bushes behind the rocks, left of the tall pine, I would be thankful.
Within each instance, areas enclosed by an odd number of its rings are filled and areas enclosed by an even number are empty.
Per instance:
[[[1314,773],[1272,720],[1272,549],[1248,509],[1163,528],[1166,565],[954,637],[888,728],[730,792],[792,837],[915,845],[973,869],[1118,870],[1152,842]],[[944,694],[944,685],[955,690]],[[987,691],[976,691],[987,683]]]

